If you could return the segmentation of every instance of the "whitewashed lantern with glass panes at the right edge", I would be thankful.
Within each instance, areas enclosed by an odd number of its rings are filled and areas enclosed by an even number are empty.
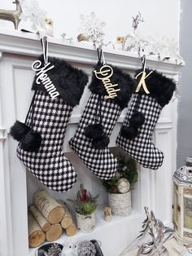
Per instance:
[[[173,175],[173,224],[182,245],[192,243],[192,157]]]

